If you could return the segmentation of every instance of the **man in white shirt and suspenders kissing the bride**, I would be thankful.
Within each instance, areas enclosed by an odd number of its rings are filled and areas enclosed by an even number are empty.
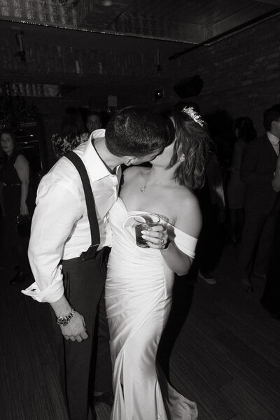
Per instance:
[[[107,214],[118,197],[120,165],[152,160],[172,142],[169,125],[148,109],[129,107],[111,118],[75,149],[83,160],[94,194],[100,245],[93,260],[81,253],[91,244],[90,225],[80,176],[65,157],[38,188],[31,227],[29,260],[36,280],[23,293],[49,302],[55,325],[62,391],[71,420],[92,420],[88,401],[90,360],[97,347],[95,390],[111,391],[108,326],[101,300],[106,279],[106,248],[111,244]],[[92,343],[97,311],[99,342]],[[62,317],[62,318],[60,318]],[[64,337],[64,339],[63,339]]]

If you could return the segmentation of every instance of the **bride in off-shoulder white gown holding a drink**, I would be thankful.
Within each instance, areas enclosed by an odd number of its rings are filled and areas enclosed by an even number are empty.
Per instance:
[[[193,189],[204,183],[209,137],[192,108],[170,116],[175,141],[152,167],[125,170],[109,218],[113,248],[105,299],[113,363],[112,420],[195,420],[195,402],[167,384],[156,365],[158,344],[172,304],[174,272],[188,272],[202,218]],[[135,215],[158,214],[160,224],[142,231],[137,246]]]

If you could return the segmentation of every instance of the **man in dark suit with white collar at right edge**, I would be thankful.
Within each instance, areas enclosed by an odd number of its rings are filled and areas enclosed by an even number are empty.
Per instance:
[[[253,291],[251,276],[266,279],[267,260],[279,211],[279,194],[272,179],[279,155],[280,104],[264,112],[266,134],[244,149],[240,179],[246,184],[245,224],[239,250],[241,287]]]

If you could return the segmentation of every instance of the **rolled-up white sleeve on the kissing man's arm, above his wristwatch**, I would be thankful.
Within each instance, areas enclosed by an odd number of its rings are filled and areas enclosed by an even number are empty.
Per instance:
[[[65,186],[39,186],[32,218],[28,257],[35,282],[22,290],[38,302],[56,302],[64,294],[62,259],[64,243],[83,207],[77,195]]]

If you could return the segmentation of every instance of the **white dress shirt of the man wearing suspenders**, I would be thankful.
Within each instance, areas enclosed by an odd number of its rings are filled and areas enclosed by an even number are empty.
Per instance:
[[[111,246],[107,214],[118,198],[121,176],[120,167],[116,174],[109,172],[92,146],[92,139],[104,136],[105,130],[95,130],[88,141],[75,149],[87,169],[94,193],[100,233],[98,249]],[[83,184],[76,167],[63,157],[43,176],[38,187],[28,250],[35,282],[22,293],[38,302],[59,300],[64,294],[59,261],[79,257],[90,244]]]

